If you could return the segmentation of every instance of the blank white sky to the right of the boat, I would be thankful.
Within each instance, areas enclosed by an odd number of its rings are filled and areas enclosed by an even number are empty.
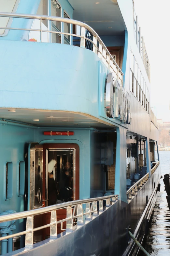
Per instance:
[[[151,106],[158,119],[170,121],[170,0],[134,1],[151,69]]]

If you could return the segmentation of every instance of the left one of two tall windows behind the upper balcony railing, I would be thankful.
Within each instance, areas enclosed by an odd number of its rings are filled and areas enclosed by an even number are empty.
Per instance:
[[[51,0],[51,16],[61,17],[61,7],[55,0]],[[61,31],[61,22],[52,21],[51,30],[57,32]],[[51,43],[61,43],[61,35],[51,33]]]

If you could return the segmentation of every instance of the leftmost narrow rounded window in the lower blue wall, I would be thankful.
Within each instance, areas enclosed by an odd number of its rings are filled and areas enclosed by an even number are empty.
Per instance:
[[[6,163],[6,183],[5,183],[5,198],[12,198],[12,162]]]

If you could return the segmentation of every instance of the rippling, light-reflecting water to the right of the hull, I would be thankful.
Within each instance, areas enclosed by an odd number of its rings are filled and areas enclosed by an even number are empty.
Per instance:
[[[159,152],[162,176],[169,173],[170,151]],[[149,233],[144,239],[144,248],[151,255],[170,255],[170,211],[166,201],[163,179],[149,224]],[[144,254],[140,251],[140,256]]]

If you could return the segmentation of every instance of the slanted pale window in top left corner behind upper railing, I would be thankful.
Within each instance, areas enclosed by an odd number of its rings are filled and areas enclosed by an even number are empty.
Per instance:
[[[0,10],[1,12],[16,12],[19,0],[0,0]],[[1,27],[9,27],[12,23],[12,18],[0,17]],[[8,31],[8,30],[7,30]],[[0,36],[3,35],[5,29],[0,29]]]

